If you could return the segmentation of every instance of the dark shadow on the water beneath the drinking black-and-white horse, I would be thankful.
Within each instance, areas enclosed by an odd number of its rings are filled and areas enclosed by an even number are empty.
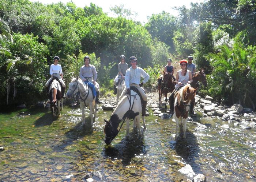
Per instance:
[[[131,132],[128,138],[125,137],[115,146],[106,146],[104,153],[113,160],[114,158],[121,159],[122,164],[127,166],[136,155],[147,153],[143,134],[139,136],[138,132]]]

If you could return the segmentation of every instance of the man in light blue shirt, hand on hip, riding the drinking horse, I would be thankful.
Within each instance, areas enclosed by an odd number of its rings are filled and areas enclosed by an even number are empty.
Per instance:
[[[140,95],[142,96],[142,116],[148,116],[146,114],[146,106],[147,106],[147,95],[143,89],[143,84],[146,83],[149,79],[149,75],[140,67],[137,66],[137,58],[135,56],[131,56],[130,58],[131,67],[128,68],[125,74],[125,86],[126,88],[123,90],[120,99],[126,94],[131,95],[130,86],[135,86],[138,88]],[[140,83],[140,77],[143,77],[144,80]]]

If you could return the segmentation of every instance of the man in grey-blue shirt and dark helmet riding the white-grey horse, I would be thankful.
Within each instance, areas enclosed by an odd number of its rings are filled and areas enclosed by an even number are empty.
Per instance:
[[[95,97],[96,103],[99,104],[99,88],[95,88],[98,73],[95,66],[90,64],[91,59],[89,56],[85,56],[83,60],[84,65],[80,68],[79,76],[84,83],[87,83],[93,89],[93,96]]]

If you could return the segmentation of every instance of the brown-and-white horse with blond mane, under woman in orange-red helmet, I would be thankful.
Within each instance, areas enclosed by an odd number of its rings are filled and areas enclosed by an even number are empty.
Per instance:
[[[177,140],[178,131],[180,130],[179,118],[181,118],[181,123],[183,126],[183,138],[186,138],[189,106],[196,96],[196,91],[197,88],[193,88],[190,86],[190,84],[186,84],[174,95],[174,118],[176,122],[175,140]]]

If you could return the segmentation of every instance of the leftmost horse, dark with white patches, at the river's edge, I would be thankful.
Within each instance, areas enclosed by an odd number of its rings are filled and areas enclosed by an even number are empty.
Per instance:
[[[63,97],[61,96],[61,84],[55,76],[53,76],[51,82],[49,83],[49,100],[46,103],[50,104],[50,110],[52,115],[60,115],[60,110],[63,110]],[[53,98],[56,98],[58,114],[56,114],[56,101],[53,102]],[[61,107],[60,107],[61,103]]]

